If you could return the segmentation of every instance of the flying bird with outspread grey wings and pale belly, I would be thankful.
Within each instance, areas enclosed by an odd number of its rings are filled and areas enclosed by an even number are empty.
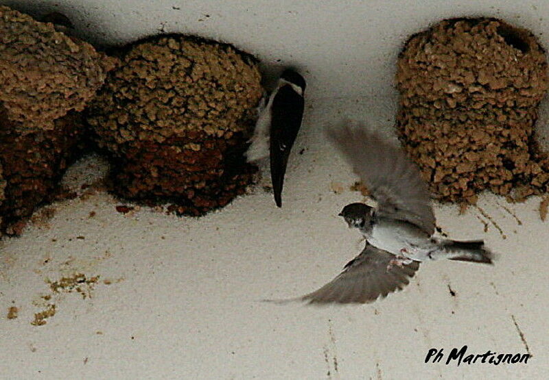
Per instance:
[[[404,151],[367,129],[328,131],[347,162],[360,175],[376,207],[346,205],[342,216],[360,231],[366,246],[342,273],[322,288],[296,299],[308,303],[370,303],[404,288],[420,262],[452,259],[491,264],[483,240],[435,238],[435,218],[428,188]]]

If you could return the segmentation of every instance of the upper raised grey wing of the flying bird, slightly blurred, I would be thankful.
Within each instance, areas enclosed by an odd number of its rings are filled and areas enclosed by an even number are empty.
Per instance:
[[[373,131],[347,124],[329,129],[328,136],[377,201],[378,216],[412,223],[429,236],[434,233],[428,188],[404,151]]]

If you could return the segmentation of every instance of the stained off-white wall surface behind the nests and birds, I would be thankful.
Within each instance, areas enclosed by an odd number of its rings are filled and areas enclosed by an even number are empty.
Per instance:
[[[372,305],[318,308],[260,300],[315,290],[362,249],[359,236],[337,216],[345,204],[362,199],[349,191],[355,177],[320,131],[344,116],[390,131],[395,58],[406,36],[440,18],[483,14],[544,33],[547,47],[549,3],[2,3],[35,14],[65,12],[81,35],[97,42],[134,40],[161,25],[233,42],[268,68],[301,66],[310,106],[290,157],[281,210],[261,186],[200,219],[147,207],[124,216],[115,210],[124,203],[100,193],[58,203],[49,227],[30,226],[21,238],[0,242],[0,378],[548,377],[549,222],[539,219],[539,198],[509,205],[482,197],[480,207],[501,231],[479,210],[458,216],[456,206],[436,206],[451,238],[487,241],[499,255],[493,267],[425,264],[404,292]],[[78,189],[101,167],[96,159],[84,160],[71,168],[67,183]],[[92,211],[97,214],[89,218]],[[56,315],[47,325],[30,325],[45,309],[40,296],[51,293],[45,279],[73,273],[100,275],[92,297],[54,294]],[[19,317],[7,320],[12,305]],[[526,365],[423,363],[430,348],[447,353],[463,344],[469,353],[524,353],[521,333],[534,355]]]

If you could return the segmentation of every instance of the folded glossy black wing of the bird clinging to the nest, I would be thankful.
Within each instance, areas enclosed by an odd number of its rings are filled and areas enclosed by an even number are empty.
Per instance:
[[[270,127],[270,177],[274,201],[282,206],[282,187],[288,156],[303,119],[305,101],[290,84],[281,86],[272,100]]]

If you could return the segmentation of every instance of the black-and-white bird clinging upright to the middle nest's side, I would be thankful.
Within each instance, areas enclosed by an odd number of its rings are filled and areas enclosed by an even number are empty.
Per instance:
[[[305,100],[305,79],[285,70],[264,106],[259,110],[255,131],[246,151],[248,162],[270,157],[270,178],[274,201],[282,207],[282,188],[288,157],[301,127]]]

